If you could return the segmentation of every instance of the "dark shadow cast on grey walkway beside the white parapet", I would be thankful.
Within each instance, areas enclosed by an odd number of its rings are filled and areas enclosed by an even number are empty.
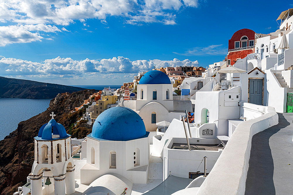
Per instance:
[[[269,139],[280,129],[290,125],[282,113],[278,115],[277,126],[263,130],[252,137],[245,194],[276,194],[273,181],[274,162]]]

